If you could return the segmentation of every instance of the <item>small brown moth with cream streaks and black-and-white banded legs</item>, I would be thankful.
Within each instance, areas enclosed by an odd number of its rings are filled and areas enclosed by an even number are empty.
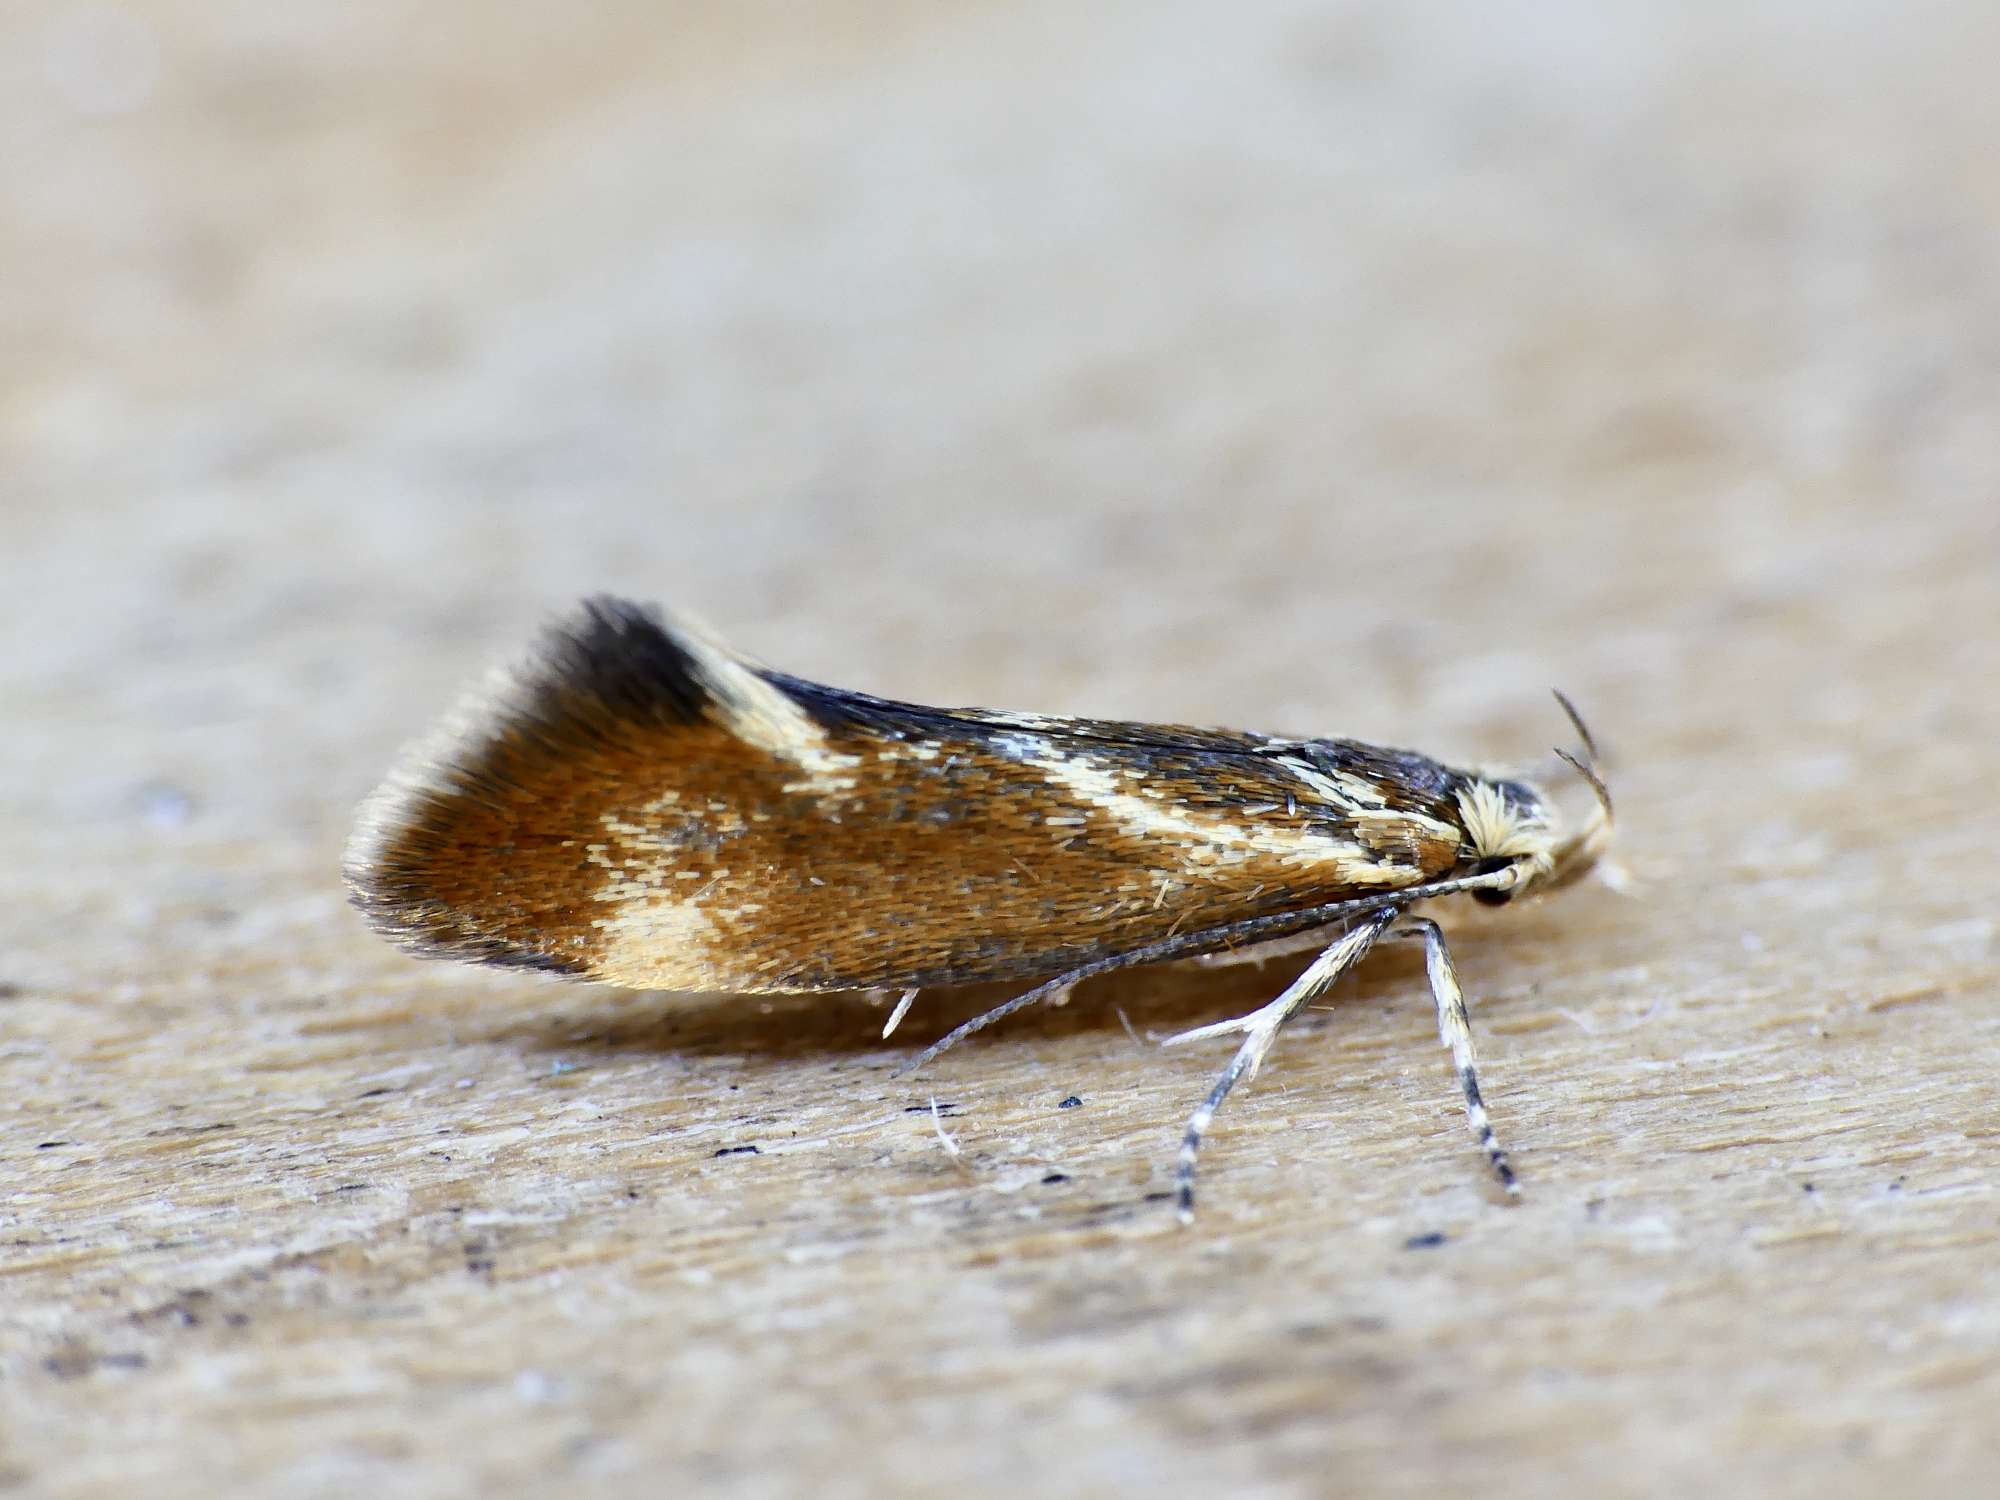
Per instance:
[[[1558,694],[1560,698],[1560,694]],[[1508,1192],[1464,992],[1432,896],[1500,906],[1586,872],[1610,838],[1526,780],[1356,740],[924,708],[756,666],[684,620],[586,602],[362,806],[354,904],[424,956],[658,990],[1042,980],[926,1048],[1130,964],[1318,932],[1188,1120],[1178,1200],[1224,1096],[1384,938],[1424,944],[1438,1032]]]

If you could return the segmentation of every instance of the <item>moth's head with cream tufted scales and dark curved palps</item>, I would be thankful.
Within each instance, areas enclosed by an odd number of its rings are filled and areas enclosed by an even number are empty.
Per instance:
[[[1568,830],[1554,798],[1534,782],[1468,776],[1458,788],[1464,864],[1472,878],[1494,878],[1494,884],[1472,890],[1472,898],[1486,906],[1506,906],[1528,888],[1560,890],[1588,874],[1610,844],[1612,794],[1596,768],[1598,746],[1570,700],[1558,692],[1556,702],[1584,742],[1582,756],[1568,750],[1556,750],[1556,756],[1584,780],[1594,806]]]

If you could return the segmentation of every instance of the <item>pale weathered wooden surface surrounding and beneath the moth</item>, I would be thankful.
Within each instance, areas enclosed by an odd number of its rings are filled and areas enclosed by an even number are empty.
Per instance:
[[[1990,1484],[2000,10],[1618,10],[8,6],[0,1492]],[[1152,1040],[1300,960],[892,1080],[996,996],[390,952],[354,802],[598,588],[1474,760],[1562,684],[1640,892],[1448,914],[1524,1200],[1408,954],[1184,1232]]]

